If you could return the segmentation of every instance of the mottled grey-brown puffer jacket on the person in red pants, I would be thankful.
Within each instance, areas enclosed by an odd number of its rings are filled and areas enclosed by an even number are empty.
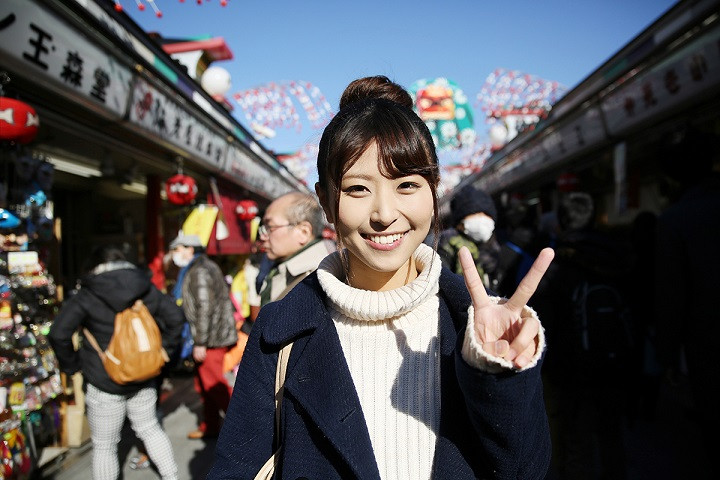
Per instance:
[[[195,345],[218,348],[237,343],[230,289],[220,267],[207,255],[198,255],[190,265],[182,298]]]

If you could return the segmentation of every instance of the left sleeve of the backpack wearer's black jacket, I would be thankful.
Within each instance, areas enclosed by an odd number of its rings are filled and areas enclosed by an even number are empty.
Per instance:
[[[78,293],[67,300],[50,326],[48,340],[60,364],[60,370],[72,375],[81,368],[80,354],[75,351],[72,336],[86,317],[85,309],[80,302]]]

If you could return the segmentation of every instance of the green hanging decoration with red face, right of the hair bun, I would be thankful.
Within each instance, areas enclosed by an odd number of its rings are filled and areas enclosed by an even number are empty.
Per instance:
[[[444,77],[418,80],[410,85],[410,95],[438,149],[474,144],[472,110],[455,82]]]

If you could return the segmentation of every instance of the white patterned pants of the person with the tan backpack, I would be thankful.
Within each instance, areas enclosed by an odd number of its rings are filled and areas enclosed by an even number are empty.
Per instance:
[[[163,480],[176,480],[178,468],[172,444],[155,413],[157,391],[143,388],[134,395],[115,395],[88,384],[85,402],[93,444],[93,478],[115,480],[120,474],[117,447],[125,416]]]

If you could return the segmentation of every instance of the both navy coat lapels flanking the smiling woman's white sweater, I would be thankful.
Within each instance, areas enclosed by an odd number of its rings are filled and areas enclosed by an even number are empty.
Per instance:
[[[307,413],[350,466],[356,478],[379,479],[375,453],[360,400],[340,345],[340,338],[319,292],[322,292],[322,289],[317,276],[312,274],[288,295],[295,298],[286,303],[289,308],[285,318],[293,317],[295,321],[288,324],[283,322],[284,319],[278,319],[275,328],[265,332],[265,338],[276,345],[296,340],[288,365],[286,395],[292,397]],[[458,398],[448,392],[459,395],[455,379],[455,349],[458,332],[464,334],[462,332],[467,320],[470,296],[462,277],[445,268],[440,276],[440,292],[440,368],[443,398],[434,474],[445,478],[443,472],[460,472],[468,468],[463,457],[457,455],[455,442],[447,437],[449,430],[453,429],[450,425],[452,421],[448,418],[448,411],[453,408],[451,400]]]

